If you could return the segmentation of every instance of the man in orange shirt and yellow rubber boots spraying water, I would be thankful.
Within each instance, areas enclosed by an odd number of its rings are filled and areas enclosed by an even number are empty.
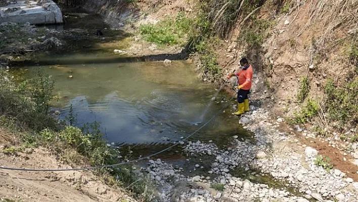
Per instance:
[[[250,93],[251,89],[251,81],[252,81],[252,67],[247,61],[246,58],[242,58],[240,60],[241,70],[229,74],[228,78],[230,79],[232,76],[238,76],[238,111],[235,112],[235,115],[241,115],[246,111],[250,111],[249,106],[249,98],[248,94]]]

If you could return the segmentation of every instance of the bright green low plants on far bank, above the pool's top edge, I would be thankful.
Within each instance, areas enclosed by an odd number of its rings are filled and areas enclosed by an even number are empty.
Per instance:
[[[159,45],[184,45],[186,44],[185,36],[191,30],[192,24],[193,19],[181,12],[175,20],[166,18],[157,24],[141,25],[140,31],[148,42]]]

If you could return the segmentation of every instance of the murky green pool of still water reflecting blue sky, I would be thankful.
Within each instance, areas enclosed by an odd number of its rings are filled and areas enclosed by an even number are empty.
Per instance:
[[[53,104],[60,118],[68,115],[72,104],[77,125],[100,122],[109,142],[170,143],[192,133],[198,123],[228,105],[221,99],[230,98],[219,93],[203,116],[216,91],[201,82],[195,68],[185,61],[166,66],[163,62],[118,62],[118,57],[79,53],[38,57],[43,58],[38,67],[55,79],[59,100]],[[50,65],[44,65],[47,63]],[[31,76],[35,67],[29,69]],[[216,140],[222,145],[233,135],[245,136],[238,119],[229,113],[231,106],[194,139]]]

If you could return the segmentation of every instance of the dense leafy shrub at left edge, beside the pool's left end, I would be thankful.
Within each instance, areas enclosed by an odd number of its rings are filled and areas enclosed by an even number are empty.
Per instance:
[[[15,120],[22,129],[55,128],[56,120],[49,113],[53,87],[51,76],[41,71],[17,84],[8,72],[0,69],[0,115]]]

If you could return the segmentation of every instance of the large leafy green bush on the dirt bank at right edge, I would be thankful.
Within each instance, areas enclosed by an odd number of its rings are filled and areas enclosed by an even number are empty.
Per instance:
[[[325,95],[329,118],[338,122],[339,127],[358,124],[358,77],[342,87],[337,87],[333,80],[328,80]]]

